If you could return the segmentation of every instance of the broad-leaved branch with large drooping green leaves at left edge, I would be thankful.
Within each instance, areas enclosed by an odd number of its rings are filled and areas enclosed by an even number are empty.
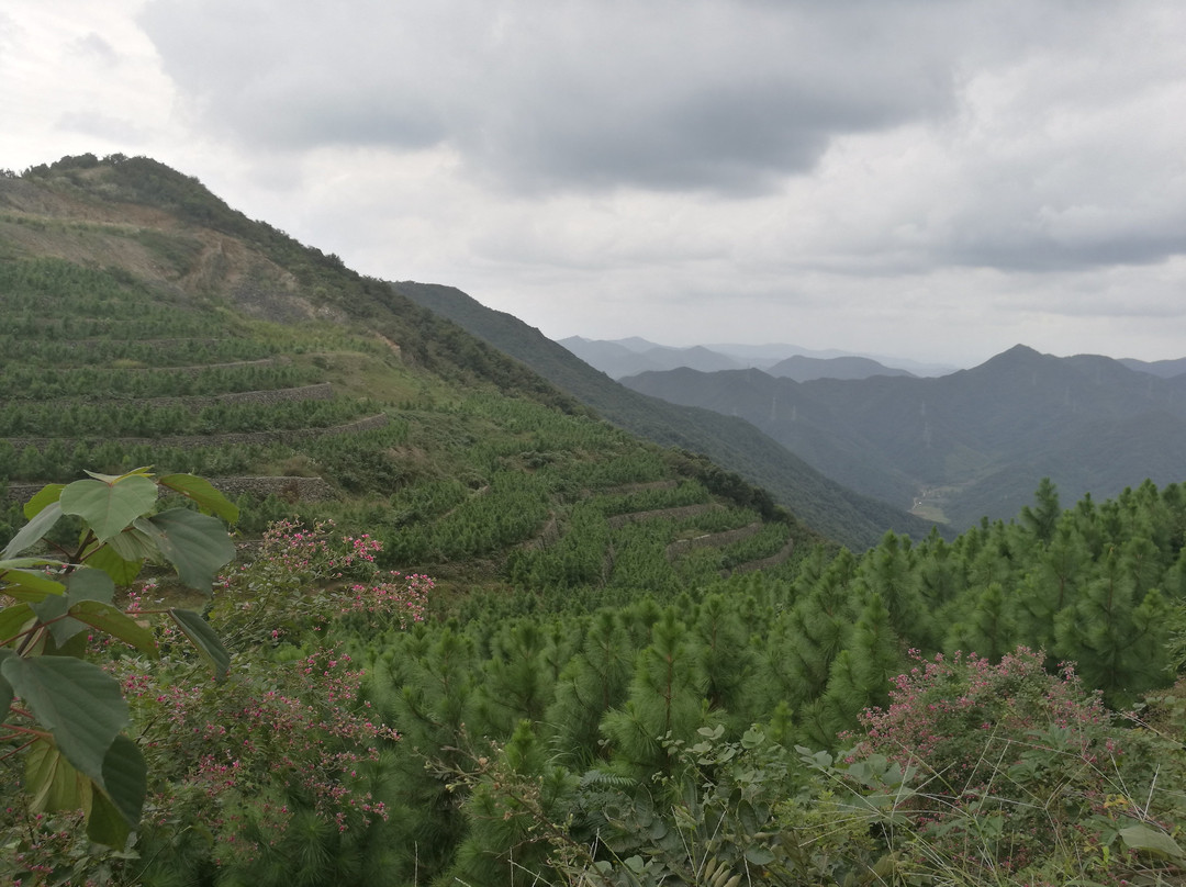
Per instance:
[[[180,493],[205,513],[178,506],[157,511],[161,492]],[[147,468],[91,474],[50,484],[24,509],[28,523],[0,553],[0,592],[15,602],[0,611],[0,741],[25,754],[26,790],[38,810],[81,809],[91,840],[122,847],[140,818],[146,766],[123,735],[129,721],[120,683],[89,662],[89,631],[157,647],[148,628],[113,604],[145,562],[170,563],[181,582],[209,593],[235,556],[219,518],[238,510],[192,474],[154,478]],[[66,516],[82,524],[77,547],[53,557],[25,554]],[[215,669],[229,657],[205,620],[165,611]]]

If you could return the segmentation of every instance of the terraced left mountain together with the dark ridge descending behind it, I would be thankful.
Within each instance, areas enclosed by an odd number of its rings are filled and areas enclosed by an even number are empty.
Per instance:
[[[9,500],[84,468],[192,471],[243,498],[246,531],[366,513],[396,564],[483,581],[631,484],[855,549],[930,529],[741,420],[635,394],[457,291],[358,275],[147,158],[0,178],[0,296]],[[491,323],[493,344],[463,328]]]

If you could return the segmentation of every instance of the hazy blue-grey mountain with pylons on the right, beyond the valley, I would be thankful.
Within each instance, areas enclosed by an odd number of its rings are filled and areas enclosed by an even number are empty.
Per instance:
[[[1075,498],[1186,477],[1186,385],[1107,357],[1019,345],[938,378],[680,370],[624,384],[746,419],[846,486],[957,529],[1015,515],[1042,477]]]

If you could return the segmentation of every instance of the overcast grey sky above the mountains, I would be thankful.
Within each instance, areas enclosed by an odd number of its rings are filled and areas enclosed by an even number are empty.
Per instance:
[[[546,336],[1186,357],[1180,0],[5,0],[0,167],[146,155]]]

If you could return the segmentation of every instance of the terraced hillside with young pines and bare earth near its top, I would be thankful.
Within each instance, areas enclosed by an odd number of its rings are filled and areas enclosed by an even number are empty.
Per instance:
[[[821,538],[152,160],[0,179],[0,256],[5,530],[45,483],[152,465],[236,497],[244,535],[333,519],[382,540],[387,566],[470,588],[551,575],[620,594],[652,570],[695,582]],[[602,529],[584,566],[548,573],[575,544],[574,509]],[[652,517],[611,527],[636,511]],[[755,522],[753,540],[728,535]],[[632,570],[602,566],[644,531]],[[702,534],[723,535],[683,568],[667,547]]]

